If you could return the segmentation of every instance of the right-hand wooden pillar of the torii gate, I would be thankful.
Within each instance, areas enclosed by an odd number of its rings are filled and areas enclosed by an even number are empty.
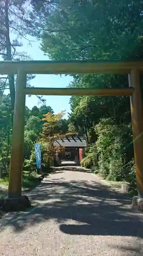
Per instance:
[[[129,74],[129,87],[135,89],[130,96],[136,183],[138,188],[138,198],[134,197],[133,206],[134,204],[139,206],[140,201],[143,199],[143,102],[139,71],[137,69],[132,69]]]

